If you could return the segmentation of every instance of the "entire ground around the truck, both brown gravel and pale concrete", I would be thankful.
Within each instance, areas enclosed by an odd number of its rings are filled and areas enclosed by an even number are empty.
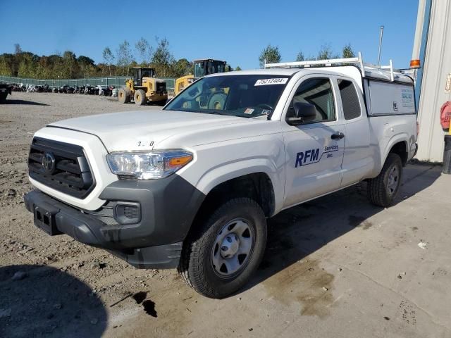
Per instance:
[[[16,92],[0,106],[0,337],[451,337],[451,175],[438,166],[408,165],[392,208],[362,183],[280,213],[257,275],[221,301],[35,228],[22,201],[33,132],[137,108],[159,109]]]

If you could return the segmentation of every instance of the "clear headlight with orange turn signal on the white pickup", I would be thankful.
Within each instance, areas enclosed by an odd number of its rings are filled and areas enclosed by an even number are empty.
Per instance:
[[[113,174],[133,175],[138,180],[168,177],[191,160],[192,154],[185,150],[111,153],[106,156]]]

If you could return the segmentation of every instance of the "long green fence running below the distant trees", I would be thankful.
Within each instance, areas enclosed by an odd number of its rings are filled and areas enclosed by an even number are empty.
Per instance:
[[[114,86],[114,87],[122,87],[125,85],[125,80],[129,79],[127,76],[114,76],[114,77],[89,77],[86,79],[49,79],[49,80],[38,80],[38,79],[29,79],[25,77],[12,77],[12,76],[4,76],[0,75],[0,82],[5,82],[8,84],[35,84],[36,86],[43,86],[44,84],[48,84],[49,87],[62,87],[67,84],[69,87],[81,87],[86,84],[90,84],[92,86]],[[175,79],[166,78],[163,79],[166,81],[166,89],[168,91],[173,91],[175,87]]]

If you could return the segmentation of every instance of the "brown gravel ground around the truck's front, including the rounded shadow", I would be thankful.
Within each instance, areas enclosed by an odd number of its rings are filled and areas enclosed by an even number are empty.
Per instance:
[[[31,332],[37,337],[99,337],[93,332],[106,328],[106,305],[145,288],[152,277],[176,276],[171,271],[136,270],[66,235],[49,237],[33,226],[23,204],[23,194],[32,189],[26,161],[36,130],[82,115],[160,108],[123,105],[101,96],[21,92],[13,92],[0,106],[1,337],[30,337]],[[27,277],[9,284],[17,272]]]

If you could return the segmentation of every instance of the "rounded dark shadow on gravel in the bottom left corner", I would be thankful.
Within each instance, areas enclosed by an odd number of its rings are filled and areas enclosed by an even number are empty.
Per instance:
[[[107,314],[84,282],[46,265],[0,268],[0,337],[101,337]]]

